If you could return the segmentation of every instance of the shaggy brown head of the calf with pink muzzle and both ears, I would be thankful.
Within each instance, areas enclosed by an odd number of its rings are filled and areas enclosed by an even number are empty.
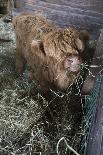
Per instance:
[[[31,45],[32,49],[39,51],[41,57],[56,59],[64,70],[79,72],[88,39],[88,32],[68,28],[49,32],[42,40],[33,41]]]

